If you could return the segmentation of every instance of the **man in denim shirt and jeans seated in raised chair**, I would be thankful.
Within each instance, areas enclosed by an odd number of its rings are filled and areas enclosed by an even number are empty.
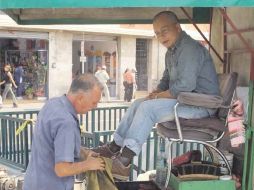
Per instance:
[[[212,58],[207,49],[182,31],[177,16],[170,11],[153,19],[154,32],[168,50],[165,70],[157,89],[146,99],[136,100],[125,113],[114,140],[94,151],[113,157],[113,175],[128,179],[129,165],[138,155],[155,123],[174,120],[174,106],[180,92],[219,95],[219,84]],[[203,118],[216,110],[180,105],[182,118]]]

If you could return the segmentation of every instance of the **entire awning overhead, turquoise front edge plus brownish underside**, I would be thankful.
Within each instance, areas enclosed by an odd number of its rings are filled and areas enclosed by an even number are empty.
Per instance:
[[[209,7],[225,6],[254,7],[254,0],[0,0],[0,9],[18,24],[151,23],[162,10],[188,22],[179,7],[196,23],[209,23]]]

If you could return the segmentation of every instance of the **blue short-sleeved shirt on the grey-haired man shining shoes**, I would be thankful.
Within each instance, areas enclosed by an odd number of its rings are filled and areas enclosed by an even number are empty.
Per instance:
[[[33,133],[32,152],[24,190],[72,190],[74,176],[58,177],[59,162],[74,162],[80,153],[77,113],[67,97],[49,100],[40,111]]]

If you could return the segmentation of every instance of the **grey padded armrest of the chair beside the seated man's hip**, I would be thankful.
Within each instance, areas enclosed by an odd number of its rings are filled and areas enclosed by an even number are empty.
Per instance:
[[[177,101],[180,104],[187,104],[191,106],[220,108],[222,107],[223,98],[216,95],[208,95],[194,92],[181,92],[177,97]]]

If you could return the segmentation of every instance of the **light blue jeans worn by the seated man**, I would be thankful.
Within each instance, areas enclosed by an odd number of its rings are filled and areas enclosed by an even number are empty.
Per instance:
[[[117,145],[126,146],[138,155],[156,123],[174,120],[176,103],[175,99],[134,101],[119,123],[114,133],[114,141]],[[179,105],[177,110],[179,117],[186,119],[209,117],[216,111],[186,105]]]

